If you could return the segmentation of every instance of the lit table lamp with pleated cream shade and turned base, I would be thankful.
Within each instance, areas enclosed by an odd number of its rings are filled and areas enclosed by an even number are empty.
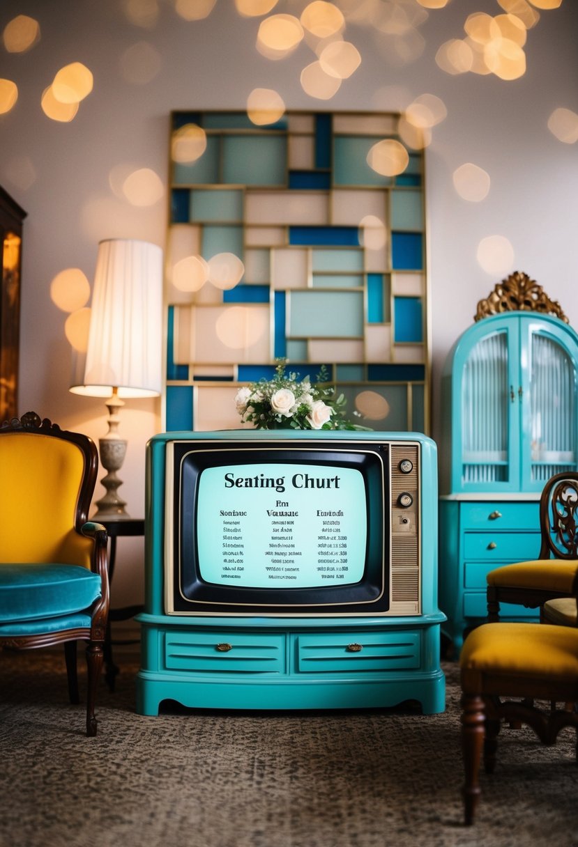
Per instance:
[[[156,244],[109,239],[98,245],[92,290],[86,364],[70,391],[108,397],[108,433],[99,440],[101,480],[106,494],[97,501],[96,520],[130,518],[118,494],[117,471],[126,455],[119,435],[119,410],[125,399],[161,392],[163,252]]]

